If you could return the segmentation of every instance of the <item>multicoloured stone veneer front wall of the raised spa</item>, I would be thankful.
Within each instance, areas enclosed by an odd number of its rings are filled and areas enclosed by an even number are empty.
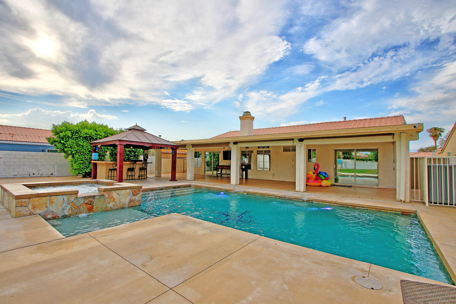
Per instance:
[[[141,205],[141,188],[121,190],[115,190],[115,188],[116,186],[113,186],[113,190],[106,191],[105,189],[98,194],[67,194],[31,198],[14,198],[10,192],[1,188],[0,197],[11,216],[39,214],[45,220]]]

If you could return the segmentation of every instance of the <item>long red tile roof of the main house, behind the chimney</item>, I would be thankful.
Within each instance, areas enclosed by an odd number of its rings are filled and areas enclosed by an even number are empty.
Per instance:
[[[395,125],[399,125],[399,124],[406,124],[404,116],[402,116],[402,115],[367,118],[367,119],[341,120],[341,121],[332,121],[332,122],[317,123],[317,124],[299,124],[299,125],[295,125],[295,126],[254,129],[254,135],[282,134],[282,133],[309,132],[309,131],[336,130],[336,129],[351,129],[351,128],[364,128],[364,127],[383,127],[383,126],[395,126]],[[241,131],[229,131],[229,132],[214,136],[212,138],[234,137],[234,136],[240,136],[240,135],[241,135]]]

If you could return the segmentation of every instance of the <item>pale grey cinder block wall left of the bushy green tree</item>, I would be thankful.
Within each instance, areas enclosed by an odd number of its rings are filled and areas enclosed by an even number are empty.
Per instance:
[[[52,176],[56,165],[69,165],[61,153],[0,151],[0,178]]]

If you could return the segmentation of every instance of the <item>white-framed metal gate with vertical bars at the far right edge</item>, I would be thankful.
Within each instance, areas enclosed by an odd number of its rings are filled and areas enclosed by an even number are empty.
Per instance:
[[[427,165],[426,204],[456,206],[456,156],[429,157]]]

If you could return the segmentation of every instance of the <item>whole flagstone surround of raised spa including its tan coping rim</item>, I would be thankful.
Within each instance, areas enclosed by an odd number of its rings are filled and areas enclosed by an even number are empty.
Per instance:
[[[27,186],[45,186],[41,184]],[[65,181],[61,184],[67,185]],[[112,180],[102,184],[107,186],[98,187],[98,193],[84,194],[77,190],[35,192],[22,184],[7,184],[1,185],[0,199],[13,217],[39,214],[45,220],[141,205],[142,185]]]

